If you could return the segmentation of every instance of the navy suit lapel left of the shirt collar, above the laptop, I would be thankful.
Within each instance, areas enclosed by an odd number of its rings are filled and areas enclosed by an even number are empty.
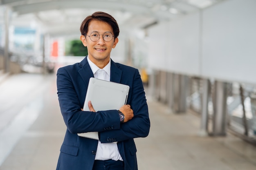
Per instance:
[[[83,82],[85,83],[86,87],[88,87],[90,77],[94,77],[90,65],[87,60],[87,56],[79,63],[81,69],[78,73],[81,75]]]

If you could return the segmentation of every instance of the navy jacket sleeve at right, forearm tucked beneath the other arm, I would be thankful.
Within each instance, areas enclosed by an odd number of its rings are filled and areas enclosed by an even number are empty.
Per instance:
[[[137,69],[133,77],[130,93],[130,106],[133,110],[134,117],[126,123],[121,123],[121,127],[119,129],[100,132],[99,139],[101,143],[124,141],[131,138],[148,136],[150,129],[148,105],[141,77]]]

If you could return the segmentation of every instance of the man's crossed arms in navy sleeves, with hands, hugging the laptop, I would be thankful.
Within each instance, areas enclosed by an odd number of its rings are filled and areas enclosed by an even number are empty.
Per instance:
[[[149,133],[150,121],[138,71],[135,73],[132,83],[132,91],[129,93],[130,102],[119,109],[125,115],[125,123],[120,123],[117,110],[95,112],[93,106],[89,106],[89,108],[91,107],[90,111],[82,111],[82,101],[79,99],[85,96],[85,94],[80,94],[84,91],[84,87],[81,87],[83,80],[71,77],[65,69],[59,70],[57,73],[58,98],[67,129],[74,134],[99,132],[102,143],[108,143],[108,138],[123,141],[146,137]],[[109,127],[111,128],[109,129]]]

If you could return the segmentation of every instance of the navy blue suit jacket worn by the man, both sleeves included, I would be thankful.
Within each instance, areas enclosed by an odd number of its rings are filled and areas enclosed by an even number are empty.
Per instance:
[[[101,143],[117,141],[125,170],[137,170],[133,138],[146,137],[150,129],[148,105],[139,71],[111,60],[110,81],[130,86],[127,104],[134,117],[120,123],[117,110],[81,111],[90,77],[94,77],[87,57],[80,63],[57,71],[58,100],[67,126],[57,170],[92,170],[98,141],[79,137],[81,132],[99,132]]]

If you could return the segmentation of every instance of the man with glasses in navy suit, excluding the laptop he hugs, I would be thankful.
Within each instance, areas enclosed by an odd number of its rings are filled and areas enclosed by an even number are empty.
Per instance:
[[[119,27],[109,14],[95,12],[83,20],[80,40],[88,56],[59,68],[58,99],[67,131],[57,170],[137,170],[133,138],[148,136],[150,121],[143,84],[135,68],[110,59],[118,43]],[[119,110],[83,111],[90,77],[130,86],[127,104]],[[99,132],[99,140],[77,133]]]

